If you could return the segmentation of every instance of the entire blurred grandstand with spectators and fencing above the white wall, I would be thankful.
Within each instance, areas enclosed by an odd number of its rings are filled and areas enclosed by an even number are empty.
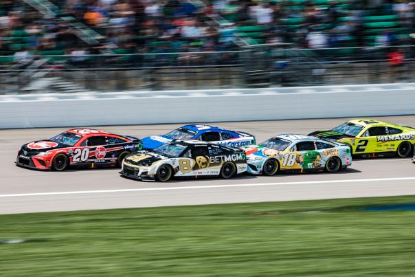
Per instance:
[[[14,82],[14,89],[27,89],[27,80],[39,76],[56,82],[57,70],[104,68],[137,69],[130,74],[140,78],[136,85],[112,89],[203,87],[215,81],[219,87],[313,85],[327,83],[315,75],[328,70],[335,76],[328,83],[345,82],[343,75],[356,81],[362,74],[361,82],[370,82],[379,75],[373,65],[388,63],[390,52],[414,58],[414,7],[401,0],[0,0],[0,86],[10,89],[7,83]],[[189,73],[185,67],[199,70]],[[230,80],[221,79],[223,67]],[[81,78],[58,75],[60,85],[68,78],[78,83],[73,92],[91,78],[90,71]],[[311,78],[298,83],[302,76]],[[108,78],[102,73],[93,80]],[[175,84],[159,85],[161,80]]]

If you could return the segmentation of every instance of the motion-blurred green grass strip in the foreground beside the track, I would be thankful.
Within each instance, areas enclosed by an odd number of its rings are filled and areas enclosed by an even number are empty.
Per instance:
[[[1,276],[414,276],[415,197],[0,216]]]

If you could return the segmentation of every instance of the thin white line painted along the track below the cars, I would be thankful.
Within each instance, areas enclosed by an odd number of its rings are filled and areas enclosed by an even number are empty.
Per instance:
[[[283,186],[283,185],[300,185],[300,184],[333,184],[333,183],[359,183],[374,181],[400,181],[415,180],[415,177],[399,177],[399,178],[378,178],[378,179],[343,179],[343,180],[326,180],[326,181],[293,181],[281,183],[262,183],[262,184],[233,184],[233,185],[211,185],[211,186],[176,186],[164,188],[126,188],[120,190],[79,190],[64,192],[36,192],[36,193],[19,193],[15,195],[0,195],[0,197],[30,197],[45,195],[82,195],[91,193],[111,193],[111,192],[135,192],[135,191],[151,191],[151,190],[190,190],[201,188],[232,188],[246,186]]]

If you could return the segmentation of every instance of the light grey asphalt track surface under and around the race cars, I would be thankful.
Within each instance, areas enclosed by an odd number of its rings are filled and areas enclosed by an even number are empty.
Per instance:
[[[415,126],[415,116],[377,119]],[[346,118],[224,122],[216,125],[256,135],[258,142],[279,133],[325,130]],[[180,124],[100,126],[100,129],[144,137]],[[85,126],[93,127],[93,126]],[[234,179],[173,179],[167,183],[124,179],[119,169],[43,172],[14,165],[25,142],[52,137],[63,128],[0,130],[0,214],[94,210],[213,203],[291,201],[348,197],[415,195],[415,164],[410,158],[355,159],[335,174],[241,175]]]

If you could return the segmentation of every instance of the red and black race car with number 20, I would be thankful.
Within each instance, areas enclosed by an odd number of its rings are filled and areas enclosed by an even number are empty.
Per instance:
[[[126,155],[143,148],[137,137],[93,129],[71,129],[49,140],[21,146],[16,164],[42,170],[69,166],[120,166]]]

